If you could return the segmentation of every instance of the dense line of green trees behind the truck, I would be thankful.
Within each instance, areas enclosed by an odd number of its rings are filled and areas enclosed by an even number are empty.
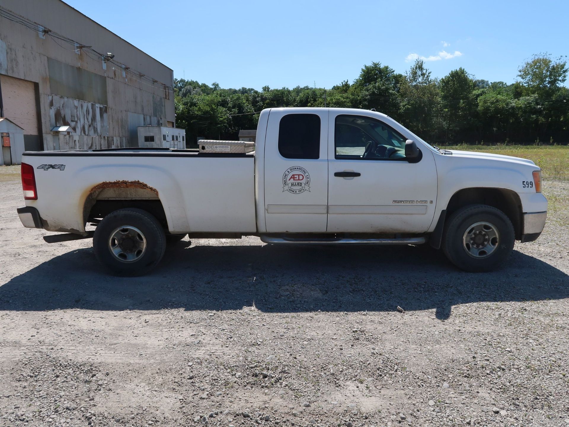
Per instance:
[[[217,83],[175,79],[176,126],[186,129],[189,142],[236,139],[239,130],[257,127],[264,108],[328,106],[376,109],[439,145],[567,144],[564,58],[534,55],[518,68],[512,84],[476,79],[464,68],[438,79],[420,59],[405,74],[373,62],[353,83],[345,80],[331,89],[222,89]]]

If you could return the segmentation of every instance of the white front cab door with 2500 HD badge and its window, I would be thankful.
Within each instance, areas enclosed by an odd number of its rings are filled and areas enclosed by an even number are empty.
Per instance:
[[[436,206],[434,154],[405,159],[406,137],[365,113],[329,117],[329,232],[426,232]]]

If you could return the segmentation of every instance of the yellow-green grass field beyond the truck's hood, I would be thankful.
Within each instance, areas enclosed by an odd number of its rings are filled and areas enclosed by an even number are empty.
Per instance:
[[[569,180],[569,146],[566,145],[455,145],[442,148],[530,159],[541,167],[543,179]]]

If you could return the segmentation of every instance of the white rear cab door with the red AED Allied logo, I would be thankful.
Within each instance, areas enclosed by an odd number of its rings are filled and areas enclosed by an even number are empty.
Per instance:
[[[328,110],[271,109],[265,139],[269,233],[325,232]]]

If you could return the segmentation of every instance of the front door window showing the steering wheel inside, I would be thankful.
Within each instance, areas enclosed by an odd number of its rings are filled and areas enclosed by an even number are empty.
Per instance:
[[[337,159],[398,160],[405,158],[405,141],[397,130],[372,117],[336,116]]]

